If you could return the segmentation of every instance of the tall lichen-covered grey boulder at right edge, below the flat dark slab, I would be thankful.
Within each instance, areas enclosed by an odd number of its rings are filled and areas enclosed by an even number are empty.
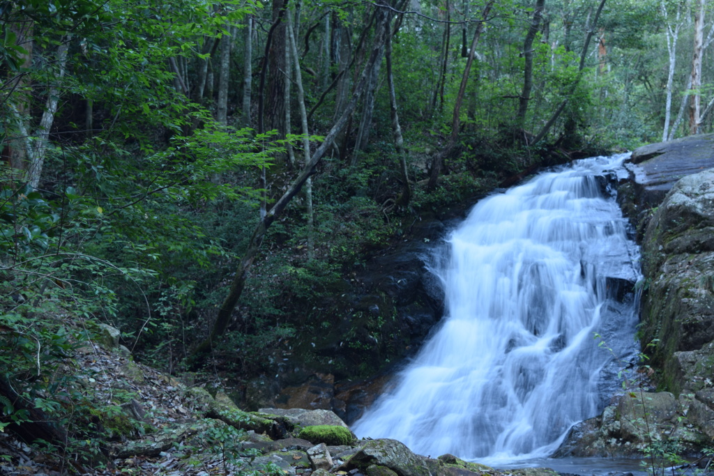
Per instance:
[[[648,223],[642,251],[645,350],[667,390],[701,390],[714,362],[714,170],[675,184]]]

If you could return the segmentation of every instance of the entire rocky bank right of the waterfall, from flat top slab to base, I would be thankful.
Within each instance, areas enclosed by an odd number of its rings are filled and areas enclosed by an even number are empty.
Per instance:
[[[558,456],[627,456],[658,441],[694,453],[714,436],[714,135],[639,148],[626,167],[618,199],[642,247],[640,343],[668,392],[618,397],[575,425]]]

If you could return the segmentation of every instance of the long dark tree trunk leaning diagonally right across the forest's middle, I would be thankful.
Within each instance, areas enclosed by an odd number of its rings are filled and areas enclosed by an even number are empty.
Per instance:
[[[368,76],[371,74],[371,69],[374,67],[374,64],[377,61],[381,61],[384,42],[386,40],[386,34],[386,26],[382,25],[381,28],[378,28],[378,31],[376,31],[374,37],[370,58],[362,71],[360,79],[356,83],[351,100],[346,104],[341,116],[333,124],[330,131],[328,131],[323,143],[321,143],[321,145],[317,148],[313,156],[311,156],[310,160],[306,163],[300,175],[298,175],[298,177],[293,181],[293,183],[291,183],[291,186],[285,193],[283,193],[283,196],[278,199],[278,201],[270,209],[270,211],[266,213],[266,216],[261,218],[256,228],[253,230],[253,234],[250,240],[248,240],[248,248],[243,254],[243,258],[241,258],[240,263],[238,263],[238,268],[236,269],[235,277],[233,278],[233,282],[231,283],[231,288],[230,290],[228,290],[228,295],[226,295],[226,299],[223,300],[223,304],[218,310],[216,321],[215,323],[213,323],[213,327],[211,328],[211,334],[208,336],[208,338],[206,338],[206,340],[203,341],[203,343],[201,343],[201,345],[198,345],[193,355],[205,353],[210,350],[213,343],[217,342],[218,338],[220,338],[221,335],[223,335],[223,333],[226,331],[226,328],[228,328],[228,325],[231,323],[233,310],[236,308],[236,304],[238,304],[238,300],[241,298],[243,288],[245,288],[246,279],[248,278],[248,271],[253,265],[253,260],[255,260],[256,255],[258,254],[258,250],[261,247],[261,243],[263,243],[263,238],[265,237],[266,231],[268,231],[268,228],[270,228],[273,221],[275,221],[276,218],[280,216],[280,214],[283,212],[288,203],[290,203],[293,197],[300,192],[307,179],[314,173],[315,167],[317,166],[318,162],[321,161],[323,156],[325,156],[326,152],[331,147],[332,142],[335,140],[337,134],[346,125],[348,119],[350,118],[355,109],[357,101],[359,101],[359,98],[363,94]]]

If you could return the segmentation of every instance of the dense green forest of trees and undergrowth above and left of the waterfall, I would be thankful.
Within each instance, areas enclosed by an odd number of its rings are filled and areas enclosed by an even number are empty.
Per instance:
[[[713,128],[705,0],[5,0],[0,24],[0,377],[26,395],[77,322],[259,373],[420,216]]]

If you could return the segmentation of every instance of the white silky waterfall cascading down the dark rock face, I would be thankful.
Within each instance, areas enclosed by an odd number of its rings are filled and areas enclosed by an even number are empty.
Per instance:
[[[638,249],[597,178],[625,158],[578,161],[473,208],[433,267],[441,328],[353,425],[358,436],[503,464],[549,455],[601,410],[636,351],[634,300],[611,288],[638,278]]]

